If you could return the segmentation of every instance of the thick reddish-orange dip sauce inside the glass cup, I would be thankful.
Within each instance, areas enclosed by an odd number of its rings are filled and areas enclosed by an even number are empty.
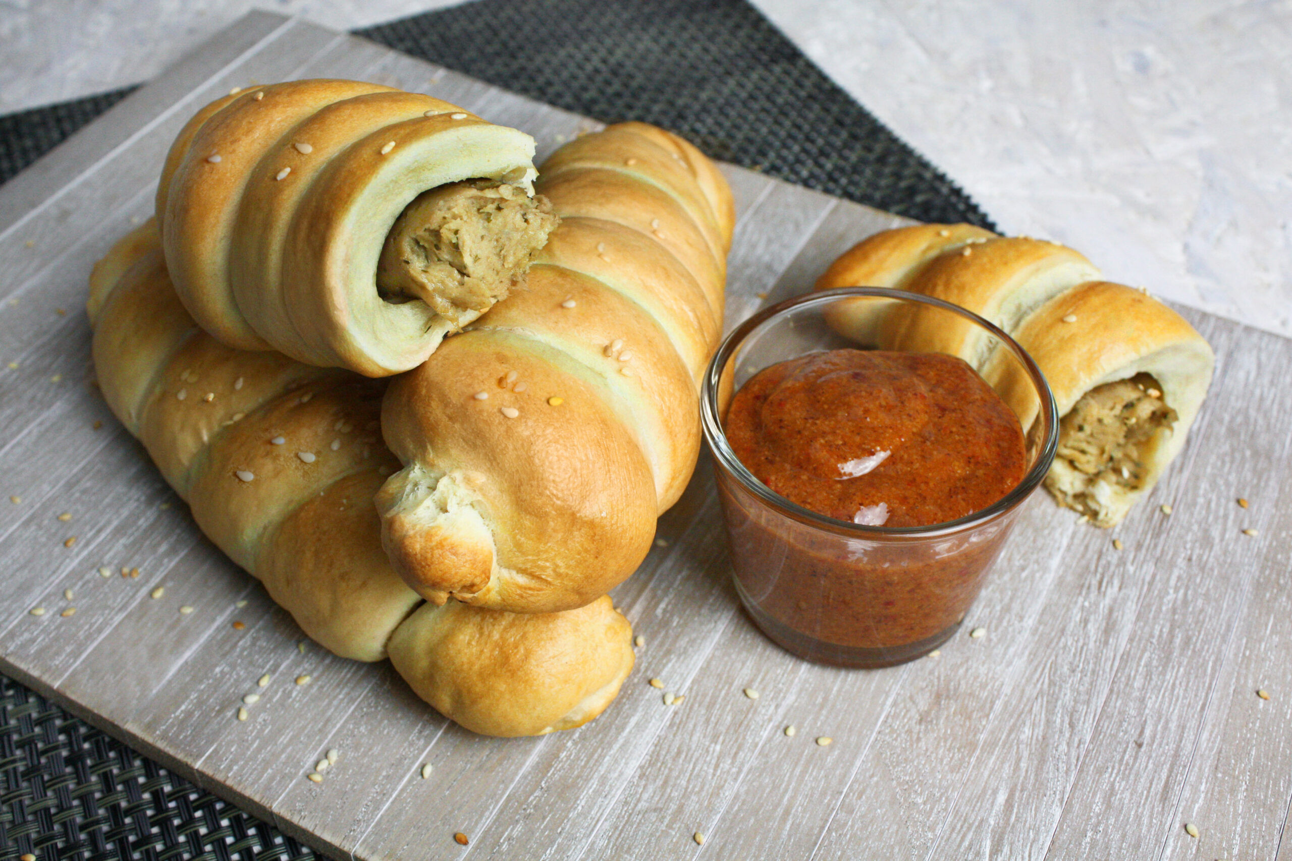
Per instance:
[[[1013,410],[965,361],[941,354],[835,350],[782,361],[735,394],[724,430],[769,488],[867,525],[956,520],[1027,471]],[[718,489],[755,621],[791,652],[846,666],[898,663],[946,640],[1013,523],[872,538],[800,523],[734,480]]]

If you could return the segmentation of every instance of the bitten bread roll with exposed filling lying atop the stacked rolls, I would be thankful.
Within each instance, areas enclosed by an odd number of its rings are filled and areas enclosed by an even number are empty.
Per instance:
[[[344,80],[243,90],[167,155],[167,266],[226,346],[407,370],[523,279],[554,227],[532,157],[530,136],[429,96]]]

